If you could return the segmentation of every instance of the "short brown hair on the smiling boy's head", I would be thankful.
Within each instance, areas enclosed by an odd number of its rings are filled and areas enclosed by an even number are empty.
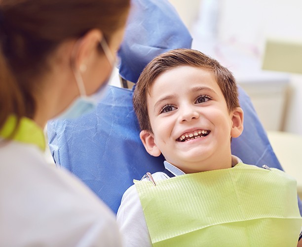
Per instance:
[[[228,111],[239,107],[238,89],[231,72],[215,59],[193,49],[174,49],[155,57],[140,75],[133,94],[133,106],[141,130],[152,132],[147,108],[147,97],[156,78],[178,66],[191,66],[209,70],[215,76],[227,102]],[[184,87],[186,84],[184,83]]]

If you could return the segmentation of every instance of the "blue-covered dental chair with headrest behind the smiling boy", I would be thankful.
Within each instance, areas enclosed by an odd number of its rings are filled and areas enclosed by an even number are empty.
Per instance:
[[[156,55],[190,48],[191,36],[168,0],[133,0],[118,52],[123,80],[136,82]],[[282,169],[248,95],[239,87],[244,131],[232,140],[232,153],[244,163]],[[81,179],[117,212],[125,190],[147,171],[163,170],[163,157],[150,156],[139,138],[133,91],[109,86],[95,111],[75,120],[48,123],[49,148],[57,166]],[[302,204],[299,201],[300,212]]]

